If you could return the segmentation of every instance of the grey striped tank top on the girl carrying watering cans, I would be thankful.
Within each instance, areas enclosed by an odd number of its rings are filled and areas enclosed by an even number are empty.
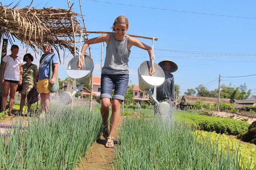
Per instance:
[[[112,33],[109,35],[102,74],[129,74],[128,58],[131,53],[128,49],[129,35],[126,35],[123,40],[116,40]]]

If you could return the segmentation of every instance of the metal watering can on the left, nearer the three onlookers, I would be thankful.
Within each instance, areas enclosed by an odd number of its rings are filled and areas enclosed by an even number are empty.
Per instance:
[[[83,87],[84,84],[91,82],[91,76],[93,74],[94,62],[89,55],[85,55],[83,70],[77,69],[77,63],[79,62],[79,55],[72,58],[67,65],[67,75],[71,80],[74,80],[74,91],[72,94],[68,91],[61,93],[61,99],[64,104],[69,104],[72,101],[72,97]],[[76,82],[79,82],[79,86],[76,87]],[[65,99],[65,100],[64,100]]]

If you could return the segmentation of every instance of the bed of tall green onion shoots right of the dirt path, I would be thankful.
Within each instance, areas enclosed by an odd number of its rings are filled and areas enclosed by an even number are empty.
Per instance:
[[[191,127],[179,122],[127,118],[120,127],[114,169],[245,169],[239,150],[219,150],[199,142]],[[229,147],[229,146],[227,146]],[[240,163],[241,162],[241,163]]]

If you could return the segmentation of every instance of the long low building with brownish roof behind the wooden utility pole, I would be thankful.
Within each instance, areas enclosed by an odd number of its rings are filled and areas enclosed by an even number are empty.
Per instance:
[[[196,101],[202,101],[203,103],[216,103],[218,98],[209,98],[209,97],[200,97],[200,96],[182,96],[181,102],[180,102],[180,108],[187,110],[190,108],[192,105],[191,103],[195,103]],[[223,103],[233,103],[231,99],[224,99],[220,98],[220,101]]]

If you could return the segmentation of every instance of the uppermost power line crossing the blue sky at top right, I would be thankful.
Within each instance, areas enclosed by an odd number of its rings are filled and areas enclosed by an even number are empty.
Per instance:
[[[243,17],[243,16],[232,16],[232,15],[218,15],[218,14],[202,13],[202,12],[179,11],[179,10],[173,10],[173,9],[154,8],[154,7],[144,7],[144,6],[136,6],[136,5],[128,5],[128,4],[120,4],[120,3],[110,3],[110,2],[104,2],[104,1],[96,1],[96,0],[88,0],[88,1],[101,2],[101,3],[106,3],[106,4],[115,4],[115,5],[125,5],[125,6],[130,6],[130,7],[139,7],[139,8],[148,8],[148,9],[159,9],[159,10],[173,11],[173,12],[185,12],[185,13],[203,14],[203,15],[213,15],[213,16],[225,16],[225,17],[236,17],[236,18],[256,19],[256,17]]]

